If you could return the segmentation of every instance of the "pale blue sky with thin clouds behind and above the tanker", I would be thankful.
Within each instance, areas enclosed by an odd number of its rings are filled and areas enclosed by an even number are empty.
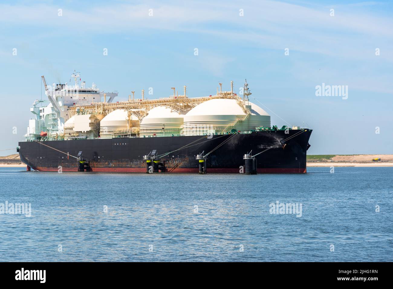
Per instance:
[[[392,12],[389,1],[2,1],[0,155],[24,139],[40,76],[64,83],[73,70],[117,101],[247,78],[253,102],[314,129],[309,154],[392,154]],[[322,83],[347,85],[348,99],[316,96]]]

